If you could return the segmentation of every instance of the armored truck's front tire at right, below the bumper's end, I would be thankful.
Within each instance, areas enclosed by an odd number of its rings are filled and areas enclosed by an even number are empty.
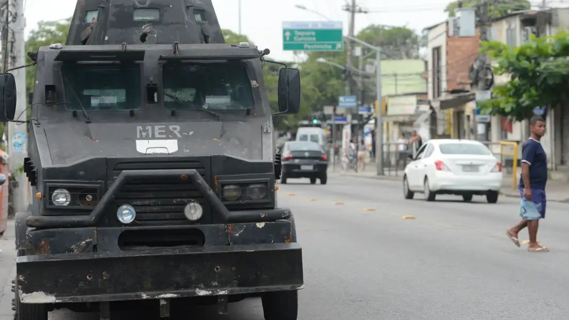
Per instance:
[[[298,291],[265,293],[262,298],[265,320],[296,320],[298,316]]]

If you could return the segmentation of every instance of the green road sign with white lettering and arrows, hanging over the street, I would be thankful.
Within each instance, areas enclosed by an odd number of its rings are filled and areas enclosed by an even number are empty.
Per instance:
[[[283,22],[283,50],[343,51],[341,22]]]

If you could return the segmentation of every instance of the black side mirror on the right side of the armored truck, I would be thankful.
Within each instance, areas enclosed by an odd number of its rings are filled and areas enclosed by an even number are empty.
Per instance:
[[[298,69],[279,70],[279,113],[296,114],[300,110],[300,72]]]

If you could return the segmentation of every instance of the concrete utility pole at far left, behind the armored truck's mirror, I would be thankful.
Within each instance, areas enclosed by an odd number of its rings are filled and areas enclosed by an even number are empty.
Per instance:
[[[19,67],[24,64],[24,27],[26,21],[24,19],[24,0],[7,0],[2,6],[5,10],[4,14],[9,16],[6,28],[7,47],[3,47],[2,51],[7,55],[7,68]],[[16,80],[17,88],[17,106],[16,116],[19,121],[26,121],[26,69],[18,69],[11,72]],[[6,134],[6,145],[9,154],[10,173],[15,177],[18,183],[17,188],[11,191],[10,202],[14,205],[14,212],[23,212],[28,206],[28,180],[26,174],[20,168],[24,164],[24,158],[27,157],[27,126],[24,124],[17,125],[9,122],[7,125],[8,132]]]

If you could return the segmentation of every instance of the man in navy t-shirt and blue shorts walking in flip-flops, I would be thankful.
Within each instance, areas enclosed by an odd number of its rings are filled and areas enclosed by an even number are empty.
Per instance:
[[[529,252],[549,252],[537,242],[539,220],[545,218],[547,183],[547,155],[541,145],[541,137],[545,134],[545,120],[535,116],[530,120],[531,137],[522,147],[522,174],[519,180],[519,193],[522,198],[520,216],[522,221],[508,229],[506,233],[518,247],[518,233],[527,227],[530,236]]]

